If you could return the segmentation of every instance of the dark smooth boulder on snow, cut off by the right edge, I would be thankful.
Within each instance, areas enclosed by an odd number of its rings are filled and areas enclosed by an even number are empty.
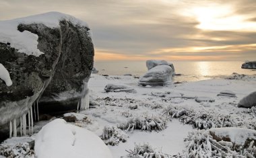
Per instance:
[[[256,106],[256,91],[243,97],[238,103],[238,108],[251,108],[253,106]]]

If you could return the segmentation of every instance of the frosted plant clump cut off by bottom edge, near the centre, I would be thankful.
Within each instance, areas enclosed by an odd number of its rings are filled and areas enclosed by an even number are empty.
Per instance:
[[[148,144],[135,145],[133,151],[129,150],[127,152],[129,153],[127,157],[131,158],[169,158],[169,155],[156,151]]]

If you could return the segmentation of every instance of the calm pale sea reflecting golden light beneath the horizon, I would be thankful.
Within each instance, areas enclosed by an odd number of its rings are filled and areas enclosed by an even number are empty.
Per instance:
[[[255,75],[256,71],[241,69],[243,62],[239,61],[173,61],[176,81],[198,81],[226,77],[232,73]],[[141,76],[147,72],[146,61],[96,61],[94,67],[98,74]]]

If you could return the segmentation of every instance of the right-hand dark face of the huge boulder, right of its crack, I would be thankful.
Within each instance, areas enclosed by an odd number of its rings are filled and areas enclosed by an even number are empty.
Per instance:
[[[88,82],[93,68],[94,47],[88,36],[88,28],[73,26],[70,22],[60,23],[62,33],[61,56],[51,83],[39,100],[42,111],[71,110],[77,106],[84,82]],[[86,87],[87,88],[87,87]],[[71,104],[73,106],[68,106]],[[50,106],[51,105],[51,106]],[[52,107],[52,108],[51,108]]]

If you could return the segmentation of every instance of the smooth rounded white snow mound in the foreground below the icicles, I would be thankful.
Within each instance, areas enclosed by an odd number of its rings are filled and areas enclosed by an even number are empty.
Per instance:
[[[62,119],[53,120],[38,132],[34,149],[38,158],[113,158],[100,137]]]

